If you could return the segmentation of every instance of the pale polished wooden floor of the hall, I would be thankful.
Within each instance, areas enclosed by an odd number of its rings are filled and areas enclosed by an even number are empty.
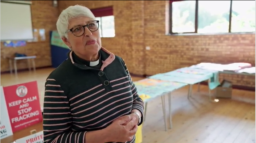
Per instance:
[[[19,72],[18,77],[1,74],[1,85],[36,80],[41,95],[52,70]],[[133,77],[134,81],[140,79]],[[164,130],[161,98],[149,102],[143,124],[143,143],[255,143],[255,92],[233,90],[233,99],[219,99],[218,102],[209,102],[204,85],[201,85],[201,92],[194,86],[189,100],[187,93],[188,87],[172,93],[173,128],[168,131]],[[32,128],[42,130],[41,125],[29,127],[28,131],[15,134],[13,139],[28,135]]]

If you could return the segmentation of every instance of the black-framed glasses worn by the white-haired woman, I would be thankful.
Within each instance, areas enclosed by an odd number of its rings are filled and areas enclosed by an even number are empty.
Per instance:
[[[99,29],[99,20],[94,20],[88,23],[87,25],[78,25],[71,29],[69,29],[67,32],[71,31],[76,37],[82,36],[85,31],[85,27],[87,27],[90,31],[94,32]]]

